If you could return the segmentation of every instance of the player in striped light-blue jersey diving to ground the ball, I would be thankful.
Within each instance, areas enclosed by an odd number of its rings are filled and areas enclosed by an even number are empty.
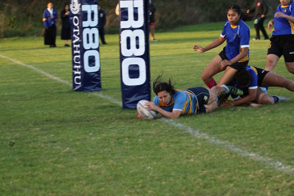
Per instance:
[[[154,80],[153,91],[156,96],[153,102],[145,104],[145,108],[170,119],[212,112],[218,107],[218,96],[222,93],[243,94],[241,90],[225,85],[214,86],[211,89],[193,87],[183,91],[175,90],[171,79],[169,82],[161,81],[162,74]],[[137,113],[137,117],[143,119],[140,113]]]

